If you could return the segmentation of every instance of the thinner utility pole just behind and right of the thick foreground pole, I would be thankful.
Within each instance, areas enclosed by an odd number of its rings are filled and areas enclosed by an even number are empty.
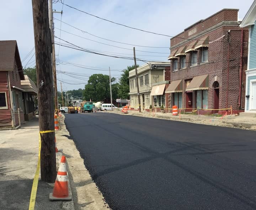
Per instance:
[[[54,44],[54,26],[53,26],[53,10],[52,10],[52,0],[49,0],[49,26],[51,31],[52,39],[52,70],[53,70],[53,88],[54,88],[54,107],[55,111],[58,110],[58,90],[57,90],[57,77],[56,77],[56,61],[55,61],[55,44]]]

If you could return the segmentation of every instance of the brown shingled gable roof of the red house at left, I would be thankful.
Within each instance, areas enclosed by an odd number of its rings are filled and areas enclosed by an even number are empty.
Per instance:
[[[0,41],[0,71],[13,71],[15,59],[20,79],[24,80],[25,78],[16,40]]]

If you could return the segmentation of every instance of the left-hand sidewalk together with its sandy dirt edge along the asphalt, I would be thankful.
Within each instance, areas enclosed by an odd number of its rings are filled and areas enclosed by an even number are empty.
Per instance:
[[[35,210],[110,210],[84,166],[84,160],[60,118],[61,130],[55,131],[58,149],[63,149],[72,189],[72,201],[50,201],[54,183],[39,176]],[[27,210],[38,161],[38,116],[17,130],[0,130],[0,209]],[[57,170],[62,156],[56,155]],[[71,193],[69,186],[69,190]]]

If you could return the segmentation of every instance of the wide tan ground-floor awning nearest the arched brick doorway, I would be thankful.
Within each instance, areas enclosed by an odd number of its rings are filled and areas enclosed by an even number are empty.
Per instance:
[[[186,91],[192,90],[208,90],[208,74],[193,77],[186,88]]]

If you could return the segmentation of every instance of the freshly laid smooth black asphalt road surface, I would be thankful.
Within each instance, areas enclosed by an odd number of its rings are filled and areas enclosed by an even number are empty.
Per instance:
[[[113,113],[66,114],[113,210],[256,209],[256,132]]]

